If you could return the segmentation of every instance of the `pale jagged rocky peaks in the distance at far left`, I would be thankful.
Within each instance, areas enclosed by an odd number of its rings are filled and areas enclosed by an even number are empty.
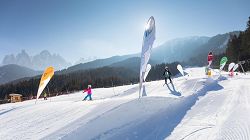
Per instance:
[[[47,50],[35,56],[29,56],[25,50],[22,50],[16,56],[13,54],[6,55],[2,61],[2,65],[8,64],[17,64],[35,70],[44,70],[48,66],[54,66],[56,70],[60,70],[71,65],[60,55],[51,54]]]

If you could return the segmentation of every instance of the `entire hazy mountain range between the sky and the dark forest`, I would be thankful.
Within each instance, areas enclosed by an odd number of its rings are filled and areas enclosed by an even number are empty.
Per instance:
[[[150,64],[171,63],[171,62],[184,62],[188,65],[202,65],[206,63],[207,53],[213,51],[214,54],[220,54],[225,52],[227,43],[230,36],[239,32],[230,32],[225,34],[216,35],[213,37],[187,37],[179,38],[167,41],[161,46],[155,47],[152,50],[150,58]],[[133,71],[139,71],[140,54],[131,54],[123,56],[112,56],[105,59],[96,59],[86,63],[80,63],[74,66],[70,66],[70,63],[66,62],[60,55],[51,54],[48,51],[42,51],[35,56],[29,56],[25,50],[16,56],[7,55],[3,59],[2,64],[16,64],[20,66],[5,66],[0,67],[0,75],[12,75],[12,77],[0,77],[0,84],[6,83],[12,80],[16,80],[24,77],[31,77],[36,74],[41,74],[35,70],[43,71],[48,66],[54,66],[56,74],[66,74],[79,70],[95,69],[104,66],[109,67],[126,67]],[[70,66],[70,67],[69,67]],[[14,68],[16,74],[13,71],[10,72],[6,67]],[[28,67],[32,72],[26,72]]]

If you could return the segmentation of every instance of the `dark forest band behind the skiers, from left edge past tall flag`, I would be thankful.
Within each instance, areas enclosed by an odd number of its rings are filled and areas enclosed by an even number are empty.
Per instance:
[[[167,65],[173,75],[178,73],[176,69],[178,63],[158,64],[152,66],[148,74],[147,81],[162,80],[163,71]],[[11,93],[21,94],[25,99],[36,96],[40,76],[29,80],[0,85],[0,99],[7,99]],[[79,70],[67,74],[55,74],[44,92],[49,96],[69,94],[87,88],[89,84],[93,88],[108,88],[112,86],[122,86],[136,84],[139,82],[139,70],[131,70],[125,67],[102,67],[96,69]],[[42,94],[43,95],[43,94]]]

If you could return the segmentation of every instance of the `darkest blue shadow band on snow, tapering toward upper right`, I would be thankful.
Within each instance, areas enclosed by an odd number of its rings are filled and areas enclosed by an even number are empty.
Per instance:
[[[114,132],[109,139],[165,139],[181,122],[196,101],[199,100],[199,97],[205,96],[209,91],[223,89],[223,87],[218,84],[218,81],[221,80],[225,79],[215,80],[197,91],[196,94],[179,98],[178,102],[169,104],[164,110],[155,113],[143,122],[134,124],[131,127],[121,128],[121,131],[118,131],[118,133]]]

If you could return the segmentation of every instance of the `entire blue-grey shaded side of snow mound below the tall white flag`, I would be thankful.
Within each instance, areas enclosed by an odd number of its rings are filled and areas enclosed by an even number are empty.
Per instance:
[[[222,77],[215,81],[209,81],[207,85],[203,86],[203,88],[195,92],[195,94],[184,98],[146,97],[140,100],[129,101],[104,112],[100,116],[98,115],[80,128],[77,128],[73,133],[61,138],[71,139],[73,136],[74,139],[165,139],[171,134],[200,97],[205,96],[209,91],[223,89],[223,87],[218,84],[218,81],[221,80],[225,80],[225,78]],[[171,94],[179,96],[181,93],[175,90],[174,85],[172,85],[172,87],[173,89],[168,87],[172,91]],[[161,105],[161,107],[157,107],[159,105]],[[136,116],[138,113],[143,113],[143,111],[151,112],[156,108],[158,109],[155,113],[142,115],[143,117],[139,117],[139,119],[125,121],[125,123],[121,123],[121,125],[114,125],[112,122],[109,122],[110,120],[126,120],[129,116]],[[128,112],[127,110],[130,111]],[[106,120],[106,118],[109,118],[109,121]],[[106,122],[103,122],[104,120],[106,120]],[[96,128],[100,123],[104,125],[102,125],[103,128],[99,128],[102,130]],[[88,132],[86,132],[86,130],[88,130]],[[53,135],[56,136],[56,134],[52,134],[52,137]],[[58,135],[60,135],[60,133],[57,134],[57,136]]]

